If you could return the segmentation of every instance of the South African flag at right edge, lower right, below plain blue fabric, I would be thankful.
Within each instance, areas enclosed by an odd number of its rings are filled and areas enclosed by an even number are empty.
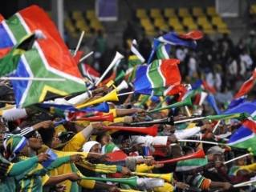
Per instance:
[[[234,134],[231,135],[228,144],[230,146],[256,152],[256,124],[253,121],[246,120]]]

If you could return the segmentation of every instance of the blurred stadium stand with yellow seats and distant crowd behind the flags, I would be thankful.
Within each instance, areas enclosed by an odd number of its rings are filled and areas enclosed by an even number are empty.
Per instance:
[[[8,18],[32,4],[47,11],[70,49],[85,31],[82,50],[95,51],[86,62],[99,72],[116,50],[128,58],[134,38],[147,59],[153,38],[189,30],[202,30],[205,37],[196,50],[171,51],[181,60],[183,82],[203,76],[221,94],[217,100],[222,102],[255,67],[256,0],[10,0],[1,1],[0,13]],[[120,68],[127,69],[127,59]]]

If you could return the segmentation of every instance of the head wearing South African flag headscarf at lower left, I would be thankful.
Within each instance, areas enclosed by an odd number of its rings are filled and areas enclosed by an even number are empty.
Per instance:
[[[29,155],[28,142],[25,137],[20,135],[12,135],[3,143],[5,148],[6,158],[9,161],[13,161],[18,155],[22,154],[25,156]]]

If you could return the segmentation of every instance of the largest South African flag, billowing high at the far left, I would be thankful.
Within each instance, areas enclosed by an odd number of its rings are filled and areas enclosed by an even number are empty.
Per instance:
[[[0,34],[6,42],[0,41],[0,48],[14,46],[26,34],[42,30],[46,39],[35,42],[35,49],[22,55],[16,77],[63,78],[59,82],[12,81],[18,107],[43,102],[47,93],[67,95],[86,90],[83,79],[67,46],[63,42],[51,19],[39,6],[30,6],[3,21]],[[8,43],[7,43],[8,42]]]

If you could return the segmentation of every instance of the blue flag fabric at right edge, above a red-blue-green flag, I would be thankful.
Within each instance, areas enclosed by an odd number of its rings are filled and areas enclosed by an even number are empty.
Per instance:
[[[234,108],[224,111],[223,114],[234,114],[234,113],[247,113],[250,114],[251,118],[256,115],[256,103],[254,102],[243,102]]]

